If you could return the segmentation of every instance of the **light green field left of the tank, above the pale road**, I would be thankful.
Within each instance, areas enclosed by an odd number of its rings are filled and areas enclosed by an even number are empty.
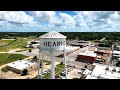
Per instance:
[[[28,50],[29,48],[26,48],[27,42],[34,39],[35,37],[26,37],[26,38],[18,37],[16,38],[16,40],[12,41],[10,44],[0,47],[0,52],[6,52],[6,51],[17,49],[17,48]]]

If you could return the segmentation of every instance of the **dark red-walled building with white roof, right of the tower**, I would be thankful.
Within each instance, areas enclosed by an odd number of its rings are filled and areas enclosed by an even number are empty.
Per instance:
[[[93,63],[97,59],[97,54],[93,51],[86,51],[78,54],[77,61]]]

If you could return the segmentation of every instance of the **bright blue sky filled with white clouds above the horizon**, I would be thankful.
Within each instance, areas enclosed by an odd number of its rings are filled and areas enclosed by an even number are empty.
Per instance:
[[[120,11],[0,11],[0,32],[119,32]]]

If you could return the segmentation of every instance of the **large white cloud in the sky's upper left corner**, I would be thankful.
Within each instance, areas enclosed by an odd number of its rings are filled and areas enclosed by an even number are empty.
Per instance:
[[[8,21],[12,24],[36,24],[34,18],[23,11],[0,11],[0,20]]]

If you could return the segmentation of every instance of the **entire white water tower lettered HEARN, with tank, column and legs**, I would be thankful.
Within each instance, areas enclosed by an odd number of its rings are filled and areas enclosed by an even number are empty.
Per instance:
[[[42,53],[44,51],[51,53],[51,79],[55,79],[55,61],[54,61],[54,54],[55,52],[63,51],[64,53],[64,64],[65,64],[65,74],[67,75],[66,70],[66,60],[65,60],[65,47],[66,47],[66,36],[60,34],[59,32],[52,30],[42,36],[40,36],[40,49]],[[43,55],[42,55],[43,57]],[[42,61],[43,62],[43,61]],[[40,54],[39,54],[39,62],[40,65]],[[43,64],[41,65],[43,66]],[[39,74],[39,69],[38,69]],[[41,67],[41,76],[42,76],[42,67]]]

